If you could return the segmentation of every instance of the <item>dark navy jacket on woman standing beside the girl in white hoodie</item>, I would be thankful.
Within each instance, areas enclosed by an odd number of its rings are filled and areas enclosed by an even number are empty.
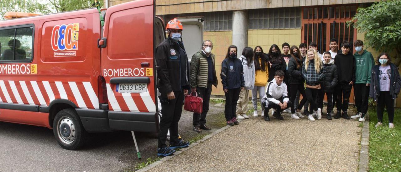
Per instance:
[[[244,69],[241,60],[237,58],[224,59],[221,62],[220,77],[223,89],[244,87]]]

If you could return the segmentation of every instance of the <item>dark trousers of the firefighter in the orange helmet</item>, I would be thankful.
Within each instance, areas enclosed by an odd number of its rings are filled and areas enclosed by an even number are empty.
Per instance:
[[[162,94],[162,117],[160,118],[159,147],[166,147],[167,131],[170,129],[170,142],[178,142],[178,121],[181,118],[182,102],[184,101],[184,90],[174,92],[175,99],[168,100],[167,94]]]

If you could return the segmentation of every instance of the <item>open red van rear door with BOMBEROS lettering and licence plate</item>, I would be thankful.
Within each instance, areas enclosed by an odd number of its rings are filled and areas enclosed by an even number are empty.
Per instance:
[[[153,2],[135,0],[107,9],[101,70],[110,129],[158,131]]]

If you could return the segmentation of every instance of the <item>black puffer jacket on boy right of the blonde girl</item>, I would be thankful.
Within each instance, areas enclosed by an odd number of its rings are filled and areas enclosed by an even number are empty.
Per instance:
[[[334,64],[334,60],[324,64],[323,68],[326,70],[326,76],[320,81],[320,86],[324,92],[334,92],[338,82],[337,66]]]

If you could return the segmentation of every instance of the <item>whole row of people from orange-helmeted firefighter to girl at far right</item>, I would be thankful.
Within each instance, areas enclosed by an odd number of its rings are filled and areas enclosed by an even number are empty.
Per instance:
[[[190,61],[182,42],[182,23],[174,18],[166,25],[168,38],[156,47],[156,82],[158,92],[158,156],[169,156],[178,148],[188,147],[178,135],[178,121],[182,114],[184,96],[188,93],[203,98],[202,113],[193,113],[193,131],[211,130],[206,125],[212,86],[217,88],[213,43],[205,40],[201,49]],[[261,116],[270,121],[272,116],[283,120],[281,113],[291,113],[293,119],[308,117],[310,121],[322,118],[323,98],[327,96],[327,119],[340,117],[350,119],[347,114],[352,86],[358,113],[353,119],[365,121],[369,95],[377,102],[377,126],[382,125],[386,106],[389,127],[394,127],[394,99],[401,88],[398,67],[391,63],[387,53],[381,53],[375,61],[370,52],[363,49],[363,42],[356,40],[356,53],[352,55],[351,44],[330,40],[330,51],[320,54],[316,43],[299,47],[288,43],[271,45],[269,52],[262,47],[245,47],[241,55],[235,45],[228,47],[221,63],[221,84],[225,93],[225,118],[227,125],[237,125],[237,119],[249,118],[249,90],[252,90],[254,117],[258,117],[258,99]],[[309,48],[309,49],[308,49]],[[300,95],[302,95],[301,101]],[[333,106],[336,104],[337,113]],[[301,113],[302,106],[304,112]],[[309,109],[308,109],[309,106]],[[169,146],[166,140],[170,140]]]

